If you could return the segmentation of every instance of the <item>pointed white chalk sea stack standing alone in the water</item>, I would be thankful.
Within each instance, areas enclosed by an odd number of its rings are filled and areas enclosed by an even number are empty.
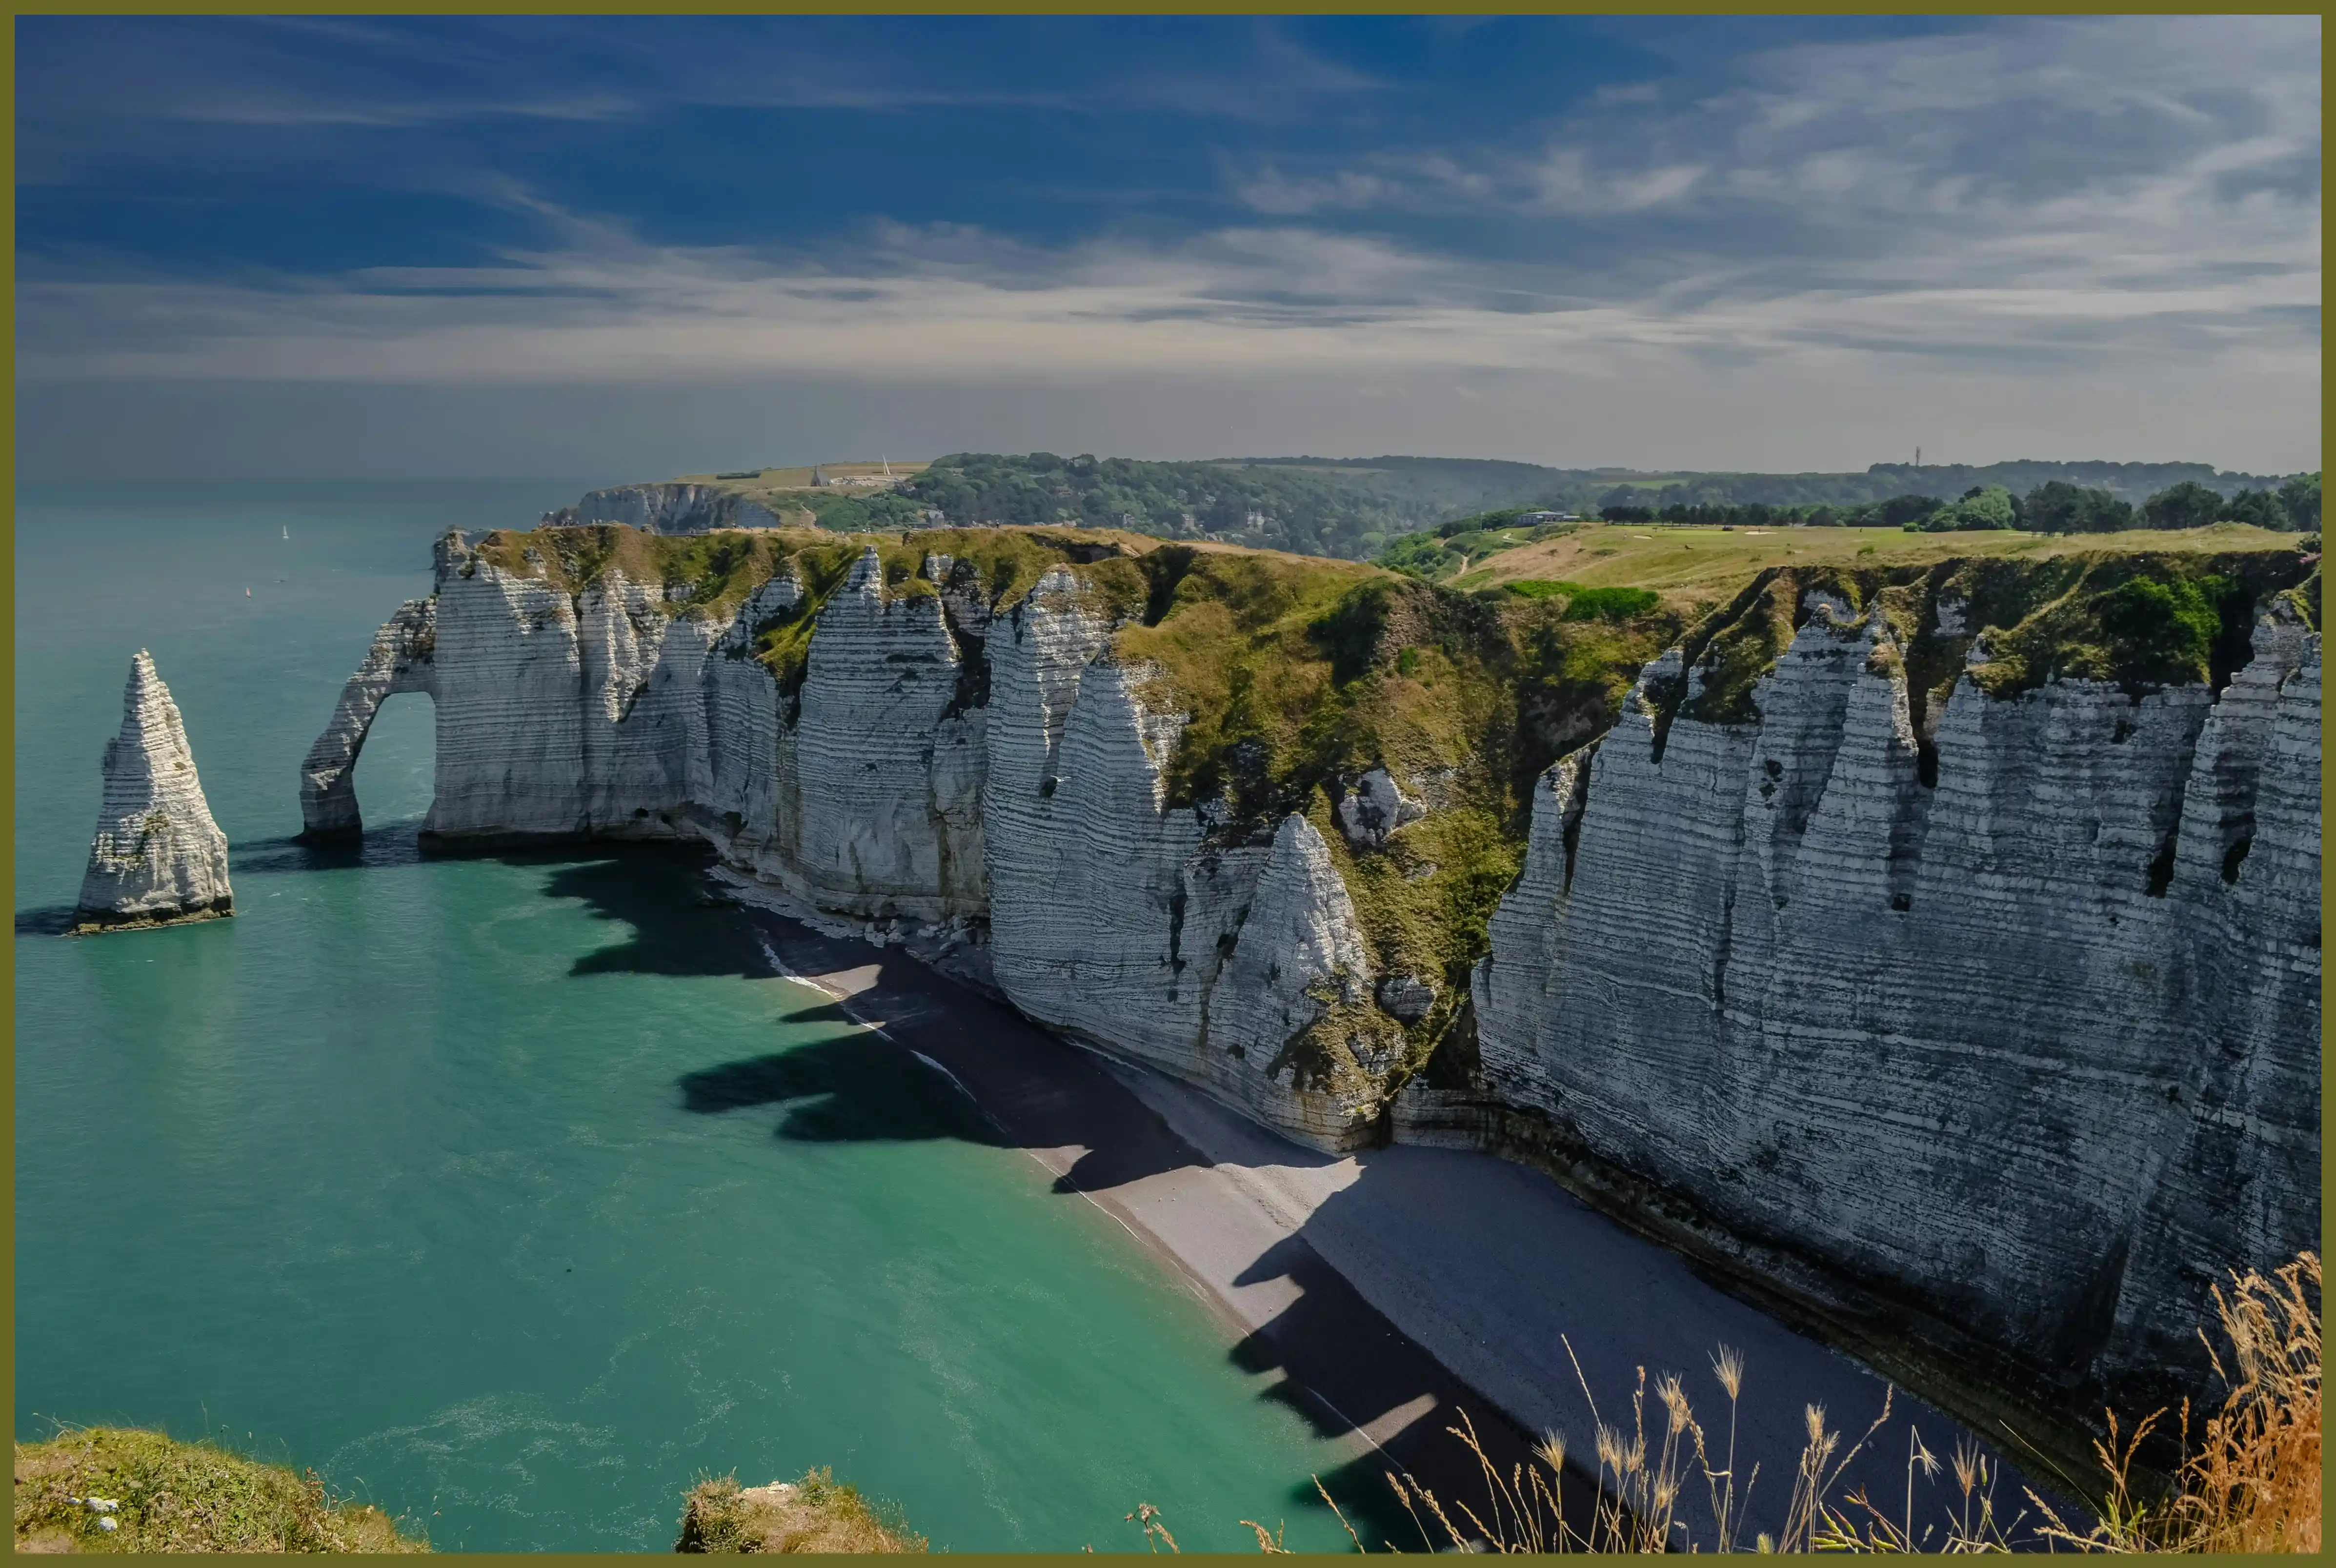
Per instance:
[[[187,724],[154,659],[138,650],[121,734],[105,743],[105,804],[72,930],[135,930],[234,914],[227,834],[210,820]]]

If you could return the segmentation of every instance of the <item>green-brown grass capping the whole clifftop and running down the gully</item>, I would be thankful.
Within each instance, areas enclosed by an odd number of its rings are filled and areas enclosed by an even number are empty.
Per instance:
[[[1535,561],[1560,551],[1567,577],[1509,575],[1479,591],[1353,561],[1091,528],[855,537],[540,528],[488,535],[481,554],[570,591],[621,568],[666,584],[668,612],[719,619],[773,573],[794,570],[801,603],[759,629],[755,647],[787,692],[801,682],[820,605],[867,544],[883,561],[888,596],[934,594],[923,563],[946,554],[976,568],[993,612],[1072,563],[1119,624],[1112,654],[1135,666],[1147,706],[1187,715],[1166,762],[1168,804],[1210,806],[1219,844],[1264,841],[1282,816],[1303,813],[1355,900],[1374,970],[1437,986],[1434,1010],[1409,1028],[1367,1005],[1336,1005],[1292,1042],[1282,1066],[1308,1087],[1343,1089],[1392,1087],[1439,1042],[1467,1033],[1467,972],[1523,860],[1532,780],[1602,734],[1638,671],[1666,647],[1682,645],[1701,673],[1691,703],[1684,685],[1659,694],[1666,729],[1675,713],[1752,722],[1759,680],[1792,643],[1808,589],[1834,594],[1852,615],[1880,601],[1923,727],[1981,633],[1986,659],[1972,680],[1995,696],[2063,675],[2142,692],[2229,678],[2271,596],[2289,596],[2315,626],[2320,615],[2317,561],[2285,537],[2266,549],[2198,547],[2212,540],[2163,549],[2165,535],[2135,535],[2161,549],[2130,549],[2123,535],[2105,535],[2091,549],[1866,554],[1855,530],[1794,530],[1834,535],[1827,542],[1845,549],[1780,566],[1789,540],[1715,540],[1712,554],[1733,563],[1722,566],[1682,561],[1677,542],[1668,551],[1656,542],[1631,556],[1649,568],[1640,587],[1614,577],[1619,561],[1605,561],[1595,542],[1602,533],[1567,530],[1511,551]],[[1766,566],[1757,566],[1761,551]],[[1941,601],[1965,605],[1960,631],[1939,629]],[[1388,766],[1432,811],[1385,846],[1357,851],[1336,830],[1334,806],[1371,766]]]

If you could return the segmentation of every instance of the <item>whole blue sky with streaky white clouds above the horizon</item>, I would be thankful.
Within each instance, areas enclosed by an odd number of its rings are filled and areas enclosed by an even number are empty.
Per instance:
[[[2317,19],[16,23],[28,474],[2320,463]]]

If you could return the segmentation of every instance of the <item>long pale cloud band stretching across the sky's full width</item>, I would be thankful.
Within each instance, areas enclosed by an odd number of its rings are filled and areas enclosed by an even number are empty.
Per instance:
[[[1086,374],[1159,367],[1551,369],[1624,355],[2317,355],[2303,266],[2168,280],[2105,257],[1988,248],[1925,269],[1712,269],[1572,292],[1521,262],[1458,259],[1301,224],[1175,245],[1037,248],[976,227],[871,224],[850,248],[680,248],[526,192],[554,243],[484,266],[343,278],[19,280],[19,379],[656,381],[708,374]],[[2007,241],[2014,243],[2016,241]]]

